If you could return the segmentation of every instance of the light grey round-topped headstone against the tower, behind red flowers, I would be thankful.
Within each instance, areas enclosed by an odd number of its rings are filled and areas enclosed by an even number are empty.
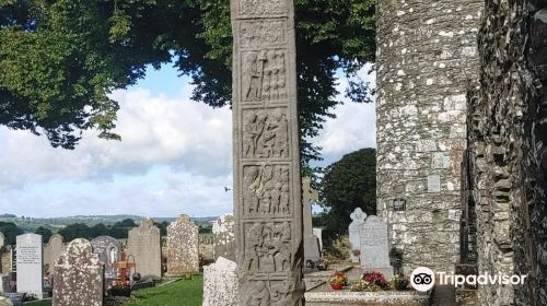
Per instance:
[[[387,224],[376,215],[366,217],[361,229],[361,267],[364,271],[382,272],[386,280],[393,278]]]

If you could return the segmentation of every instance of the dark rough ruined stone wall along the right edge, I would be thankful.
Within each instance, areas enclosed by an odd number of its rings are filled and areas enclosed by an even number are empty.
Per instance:
[[[468,132],[479,272],[525,274],[480,286],[482,305],[547,305],[547,2],[487,0],[480,90]]]

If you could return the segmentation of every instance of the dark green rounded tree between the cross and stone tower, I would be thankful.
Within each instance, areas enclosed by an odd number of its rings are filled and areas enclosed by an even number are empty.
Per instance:
[[[356,208],[376,214],[376,150],[361,149],[326,168],[321,184],[327,227],[348,228]]]

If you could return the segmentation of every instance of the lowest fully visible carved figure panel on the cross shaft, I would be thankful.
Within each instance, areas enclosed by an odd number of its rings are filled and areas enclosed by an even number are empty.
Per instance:
[[[244,269],[251,274],[287,272],[291,269],[291,227],[284,222],[246,224]]]

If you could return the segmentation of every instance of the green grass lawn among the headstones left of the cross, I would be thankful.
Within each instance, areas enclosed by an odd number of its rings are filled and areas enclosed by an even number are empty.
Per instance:
[[[201,306],[203,278],[194,275],[191,280],[181,280],[163,286],[133,291],[133,302],[124,306]],[[25,306],[50,306],[51,301],[25,303]]]

